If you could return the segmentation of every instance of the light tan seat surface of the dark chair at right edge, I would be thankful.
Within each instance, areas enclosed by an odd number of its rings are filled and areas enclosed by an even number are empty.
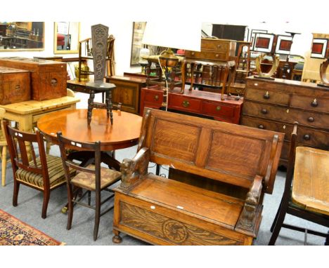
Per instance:
[[[292,200],[305,209],[329,215],[329,152],[297,147]]]

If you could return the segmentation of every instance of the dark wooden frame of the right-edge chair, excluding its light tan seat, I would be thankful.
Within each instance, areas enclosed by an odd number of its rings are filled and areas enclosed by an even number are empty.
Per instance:
[[[295,123],[293,132],[291,134],[288,168],[287,168],[287,175],[285,178],[285,189],[284,189],[283,196],[282,196],[282,199],[280,202],[280,206],[276,213],[276,217],[274,218],[273,224],[271,226],[271,232],[273,234],[269,241],[269,245],[274,245],[276,243],[276,239],[277,239],[280,229],[282,227],[292,229],[295,231],[299,231],[299,232],[327,237],[325,244],[328,244],[329,233],[323,234],[321,232],[316,232],[314,230],[296,227],[296,226],[292,226],[292,225],[288,225],[288,224],[284,223],[285,215],[290,214],[290,215],[294,215],[295,217],[300,217],[304,220],[309,220],[310,222],[317,223],[318,225],[323,225],[325,227],[329,227],[329,215],[325,215],[323,213],[318,213],[316,211],[308,210],[307,208],[305,208],[305,206],[302,206],[301,203],[297,203],[292,198],[292,196],[297,194],[297,192],[292,192],[292,181],[293,181],[293,177],[294,177],[294,171],[296,168],[296,166],[295,166],[296,140],[297,140],[297,123]],[[309,179],[311,179],[311,178],[309,178]]]

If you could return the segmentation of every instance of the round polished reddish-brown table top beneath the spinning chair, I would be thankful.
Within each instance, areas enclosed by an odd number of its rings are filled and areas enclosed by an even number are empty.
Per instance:
[[[52,142],[58,143],[57,132],[79,142],[101,141],[101,149],[123,149],[138,142],[142,117],[113,110],[113,125],[105,109],[93,109],[90,126],[87,124],[87,109],[62,110],[46,114],[37,121],[37,127]]]

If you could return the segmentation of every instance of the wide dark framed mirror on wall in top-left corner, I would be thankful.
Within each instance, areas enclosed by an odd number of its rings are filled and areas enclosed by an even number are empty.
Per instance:
[[[0,51],[43,51],[44,22],[0,22]]]

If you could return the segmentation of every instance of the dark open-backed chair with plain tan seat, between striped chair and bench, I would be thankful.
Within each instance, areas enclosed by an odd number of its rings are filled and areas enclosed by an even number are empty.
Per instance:
[[[60,155],[62,156],[63,167],[65,169],[65,177],[67,182],[67,199],[68,199],[68,217],[67,217],[67,230],[71,229],[73,217],[73,204],[77,203],[88,208],[95,210],[95,225],[93,227],[93,240],[96,241],[98,235],[98,226],[102,215],[110,211],[113,206],[101,213],[101,205],[106,201],[112,199],[114,194],[110,194],[107,198],[101,201],[101,192],[108,189],[115,182],[121,178],[119,171],[111,170],[109,168],[101,167],[101,142],[84,143],[69,140],[61,133],[58,133],[58,140],[60,142]],[[68,149],[73,149],[76,152],[88,151],[94,152],[94,164],[89,164],[82,167],[75,161],[70,161],[67,157]],[[76,170],[75,176],[69,172],[70,168]],[[85,190],[81,194],[81,190]],[[95,192],[95,206],[91,206],[90,192]],[[80,196],[78,194],[80,193]],[[84,196],[88,194],[88,203],[82,202]]]

